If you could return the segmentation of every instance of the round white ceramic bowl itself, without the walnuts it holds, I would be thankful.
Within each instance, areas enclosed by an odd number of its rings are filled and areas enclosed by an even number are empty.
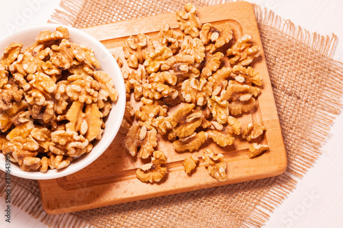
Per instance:
[[[26,47],[32,45],[35,42],[36,36],[40,33],[40,31],[44,29],[49,29],[50,31],[56,31],[56,27],[61,25],[56,24],[47,24],[47,25],[37,25],[34,27],[27,27],[25,29],[21,29],[20,31],[16,31],[12,34],[8,34],[4,38],[0,39],[0,56],[2,56],[3,49],[8,47],[11,42],[21,42],[23,43],[24,50]],[[125,85],[123,81],[123,77],[121,75],[120,68],[111,55],[111,53],[102,45],[101,42],[93,38],[93,36],[86,34],[84,31],[80,29],[75,29],[73,27],[69,27],[66,25],[62,25],[69,29],[70,34],[70,41],[75,42],[79,45],[85,45],[86,47],[93,49],[95,53],[95,57],[99,60],[101,64],[100,70],[105,71],[113,78],[115,83],[115,88],[119,93],[119,97],[117,102],[113,103],[112,110],[106,119],[106,127],[104,129],[104,134],[102,135],[102,139],[99,142],[95,143],[95,146],[91,150],[91,152],[81,155],[80,157],[76,158],[71,162],[69,166],[66,168],[62,168],[61,170],[47,170],[47,173],[40,173],[39,171],[23,171],[19,168],[18,164],[13,162],[10,163],[10,174],[23,177],[27,179],[54,179],[59,177],[64,177],[70,175],[71,173],[75,173],[78,170],[88,166],[92,162],[94,162],[97,157],[102,155],[110,143],[113,141],[119,127],[121,125],[121,121],[123,119],[123,114],[125,112],[125,103],[126,103],[126,94],[125,94]],[[5,156],[1,153],[0,154],[0,169],[5,171]]]

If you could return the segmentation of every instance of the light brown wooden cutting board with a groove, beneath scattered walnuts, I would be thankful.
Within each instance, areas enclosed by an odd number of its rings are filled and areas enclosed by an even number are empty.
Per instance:
[[[262,47],[255,13],[250,3],[237,2],[214,5],[197,10],[202,23],[213,23],[222,27],[227,21],[236,25],[234,35],[252,35],[252,41]],[[233,21],[234,20],[234,21]],[[138,18],[108,25],[83,29],[95,36],[112,53],[122,55],[123,40],[128,36],[145,33],[156,40],[158,31],[165,23],[171,28],[178,28],[176,13]],[[137,157],[132,157],[125,149],[125,135],[118,134],[110,147],[95,162],[67,177],[38,181],[43,207],[48,214],[62,214],[95,207],[115,205],[161,197],[168,194],[200,190],[215,186],[273,177],[284,172],[287,158],[279,117],[265,63],[265,56],[257,58],[252,66],[262,75],[263,86],[257,99],[256,107],[239,118],[242,127],[248,123],[263,123],[267,129],[259,139],[268,144],[270,149],[263,155],[250,159],[248,142],[237,138],[232,146],[220,148],[212,140],[193,155],[200,158],[200,164],[192,175],[187,175],[182,168],[182,161],[191,153],[176,153],[170,142],[159,142],[158,149],[167,156],[169,173],[160,183],[143,183],[136,177],[136,170],[143,164]],[[110,126],[107,126],[110,127]],[[226,161],[228,179],[224,182],[211,177],[204,168],[201,156],[206,148],[215,153],[223,153]]]

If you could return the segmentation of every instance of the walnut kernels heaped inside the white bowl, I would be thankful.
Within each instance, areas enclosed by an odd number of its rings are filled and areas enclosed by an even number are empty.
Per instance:
[[[0,63],[0,150],[25,171],[60,169],[93,148],[117,101],[93,50],[69,31],[41,31],[27,49],[11,43]],[[129,117],[130,118],[130,117]]]

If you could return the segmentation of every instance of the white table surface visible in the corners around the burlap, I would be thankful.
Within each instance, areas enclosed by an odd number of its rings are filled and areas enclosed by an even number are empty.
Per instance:
[[[60,0],[0,0],[0,37],[12,29],[46,23]],[[343,62],[342,0],[250,0],[273,10],[311,32],[338,36],[333,59]],[[343,114],[337,116],[315,166],[271,214],[264,227],[343,227]],[[12,207],[5,222],[5,200],[0,199],[0,227],[47,227]]]

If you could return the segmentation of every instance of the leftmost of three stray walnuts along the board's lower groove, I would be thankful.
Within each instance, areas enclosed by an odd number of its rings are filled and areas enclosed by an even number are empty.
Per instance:
[[[152,162],[145,164],[137,169],[136,175],[140,181],[150,183],[158,182],[165,177],[168,173],[166,167],[162,167],[161,164],[166,164],[167,158],[162,151],[154,151]]]

